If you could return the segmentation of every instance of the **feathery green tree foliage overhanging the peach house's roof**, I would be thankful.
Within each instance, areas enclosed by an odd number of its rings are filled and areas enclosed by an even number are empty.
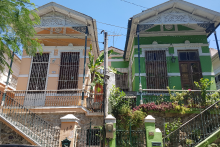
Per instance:
[[[40,17],[27,5],[36,10],[30,0],[0,1],[0,71],[9,67],[5,54],[12,59],[12,51],[21,55],[21,48],[28,55],[35,55],[38,49],[42,51],[38,40],[33,39],[36,34],[33,26],[40,23]]]

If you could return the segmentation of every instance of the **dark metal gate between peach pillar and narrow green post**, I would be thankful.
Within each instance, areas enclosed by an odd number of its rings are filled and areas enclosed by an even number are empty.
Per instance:
[[[88,127],[77,127],[74,147],[102,147],[104,138],[103,127],[94,127],[92,122]]]

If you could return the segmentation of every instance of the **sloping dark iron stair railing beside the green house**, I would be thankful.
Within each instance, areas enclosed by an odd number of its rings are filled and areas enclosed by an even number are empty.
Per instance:
[[[163,138],[166,147],[194,147],[219,129],[220,101]]]

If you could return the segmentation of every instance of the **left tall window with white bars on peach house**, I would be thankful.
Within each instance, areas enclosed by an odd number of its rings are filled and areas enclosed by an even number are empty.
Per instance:
[[[45,90],[49,53],[37,53],[33,57],[28,90]]]

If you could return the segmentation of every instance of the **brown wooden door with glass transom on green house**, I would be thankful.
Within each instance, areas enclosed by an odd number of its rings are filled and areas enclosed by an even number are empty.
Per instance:
[[[201,65],[197,51],[180,51],[179,67],[183,89],[197,89],[194,81],[202,78]]]

